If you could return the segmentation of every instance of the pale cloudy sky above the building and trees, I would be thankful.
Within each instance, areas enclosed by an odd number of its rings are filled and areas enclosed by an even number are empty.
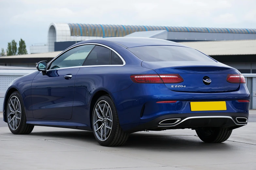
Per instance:
[[[0,0],[0,49],[46,44],[50,23],[256,28],[256,0]]]

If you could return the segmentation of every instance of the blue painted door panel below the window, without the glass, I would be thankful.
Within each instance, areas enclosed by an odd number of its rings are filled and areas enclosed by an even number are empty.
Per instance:
[[[51,70],[36,75],[32,81],[31,98],[35,119],[69,120],[72,116],[75,77],[79,68]],[[72,78],[64,79],[71,74]]]

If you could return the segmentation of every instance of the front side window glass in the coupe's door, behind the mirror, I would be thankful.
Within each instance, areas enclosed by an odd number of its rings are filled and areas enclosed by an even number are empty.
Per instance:
[[[65,52],[51,63],[49,69],[82,66],[94,46],[82,45]]]

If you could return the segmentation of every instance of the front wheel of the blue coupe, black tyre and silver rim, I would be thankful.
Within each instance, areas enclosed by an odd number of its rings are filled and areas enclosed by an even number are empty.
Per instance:
[[[12,105],[11,103],[14,104]],[[20,93],[17,91],[13,92],[8,99],[6,105],[6,118],[8,127],[13,134],[29,134],[34,129],[33,125],[26,124],[24,103]]]

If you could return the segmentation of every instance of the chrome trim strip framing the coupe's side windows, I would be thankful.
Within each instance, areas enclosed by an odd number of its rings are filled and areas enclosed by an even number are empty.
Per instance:
[[[99,44],[99,43],[84,43],[84,44],[75,45],[75,46],[73,46],[73,47],[71,47],[71,48],[69,48],[69,49],[66,49],[65,51],[61,52],[59,55],[57,55],[56,57],[54,57],[54,58],[47,64],[47,68],[48,68],[49,65],[50,65],[56,58],[58,58],[61,54],[65,53],[66,51],[69,51],[69,50],[71,50],[71,49],[73,49],[73,48],[75,48],[75,47],[82,46],[82,45],[99,45],[99,46],[103,46],[103,47],[105,47],[105,48],[108,48],[109,50],[112,50],[114,53],[116,53],[116,54],[120,57],[120,59],[123,61],[123,64],[122,64],[122,65],[73,66],[73,67],[63,67],[63,68],[58,68],[58,69],[49,69],[49,70],[46,70],[46,71],[61,70],[61,69],[69,69],[69,68],[78,68],[78,67],[124,66],[124,65],[126,64],[125,61],[124,61],[124,59],[123,59],[123,57],[122,57],[120,54],[118,54],[118,52],[116,52],[114,49],[112,49],[112,48],[110,48],[110,47],[108,47],[108,46],[106,46],[106,45]],[[88,56],[87,56],[87,57],[88,57]],[[87,57],[86,57],[86,58],[87,58]],[[86,59],[86,58],[85,58],[85,59]]]

